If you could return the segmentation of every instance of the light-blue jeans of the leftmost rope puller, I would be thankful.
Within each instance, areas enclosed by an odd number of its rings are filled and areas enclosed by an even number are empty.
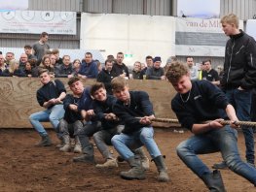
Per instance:
[[[55,105],[51,109],[47,109],[41,112],[32,113],[29,116],[30,123],[32,124],[33,128],[39,133],[40,136],[48,135],[45,128],[40,122],[51,122],[53,127],[56,129],[59,123],[59,119],[63,118],[64,116],[64,109],[63,105]]]

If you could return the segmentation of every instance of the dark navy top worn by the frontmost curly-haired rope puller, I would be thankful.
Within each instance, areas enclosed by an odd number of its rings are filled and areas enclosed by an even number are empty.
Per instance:
[[[201,121],[224,118],[220,110],[225,110],[228,104],[225,94],[217,86],[207,80],[196,80],[192,82],[190,92],[175,95],[171,109],[181,126],[192,130],[193,125]]]

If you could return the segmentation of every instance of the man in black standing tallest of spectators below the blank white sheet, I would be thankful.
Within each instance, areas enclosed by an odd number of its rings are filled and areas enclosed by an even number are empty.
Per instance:
[[[113,71],[117,74],[117,76],[121,76],[128,79],[129,78],[128,67],[126,66],[125,63],[123,63],[123,61],[124,61],[124,53],[118,52],[117,58],[113,65]]]

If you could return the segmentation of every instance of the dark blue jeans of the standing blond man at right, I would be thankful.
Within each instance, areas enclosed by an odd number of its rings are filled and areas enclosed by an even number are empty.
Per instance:
[[[237,112],[239,120],[250,121],[250,111],[251,111],[251,90],[238,90],[230,89],[226,91],[226,96],[229,102],[234,106]],[[242,133],[245,140],[246,152],[245,157],[248,163],[254,164],[254,138],[252,127],[242,127]]]

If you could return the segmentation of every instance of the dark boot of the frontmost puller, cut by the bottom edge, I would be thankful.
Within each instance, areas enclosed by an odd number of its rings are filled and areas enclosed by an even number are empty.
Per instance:
[[[212,192],[225,192],[225,187],[223,184],[223,180],[220,174],[220,171],[214,170],[210,174],[204,174],[201,176],[204,184],[208,187],[208,189]]]

